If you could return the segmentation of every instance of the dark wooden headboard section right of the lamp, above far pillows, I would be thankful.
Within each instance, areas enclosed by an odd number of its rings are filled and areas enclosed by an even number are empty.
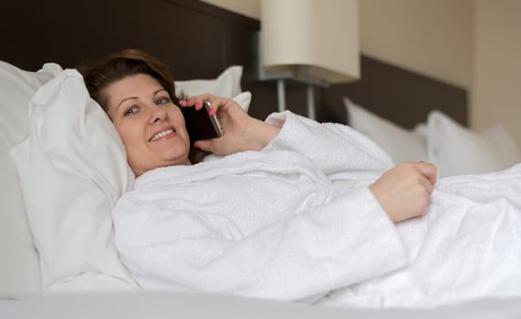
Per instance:
[[[412,129],[424,121],[432,109],[439,109],[467,126],[467,93],[431,77],[424,77],[400,67],[393,67],[374,58],[360,59],[358,81],[334,85],[323,91],[323,119],[345,122],[346,113],[336,108],[343,97],[368,108],[383,118]]]

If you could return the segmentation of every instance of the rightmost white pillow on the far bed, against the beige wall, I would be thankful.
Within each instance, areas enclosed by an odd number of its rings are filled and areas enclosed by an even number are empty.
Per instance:
[[[429,114],[427,129],[429,160],[440,177],[505,170],[519,161],[516,143],[505,130],[493,129],[482,136],[438,110]]]

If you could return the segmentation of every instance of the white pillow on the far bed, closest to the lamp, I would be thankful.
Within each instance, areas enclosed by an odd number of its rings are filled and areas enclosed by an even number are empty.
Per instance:
[[[348,110],[349,126],[372,139],[387,151],[394,163],[427,160],[427,146],[422,137],[422,126],[407,130],[380,118],[369,110],[344,98]]]

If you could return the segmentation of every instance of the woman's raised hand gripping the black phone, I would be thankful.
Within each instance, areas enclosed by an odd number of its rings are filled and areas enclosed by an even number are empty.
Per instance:
[[[278,133],[279,128],[257,118],[250,117],[233,99],[203,94],[180,101],[182,107],[198,108],[203,111],[203,101],[212,105],[210,114],[217,114],[224,135],[216,139],[196,141],[193,146],[218,155],[232,154],[244,150],[260,150]]]

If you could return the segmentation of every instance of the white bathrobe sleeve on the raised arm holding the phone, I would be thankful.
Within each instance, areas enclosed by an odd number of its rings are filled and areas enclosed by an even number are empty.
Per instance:
[[[263,151],[297,151],[330,180],[374,180],[394,166],[383,149],[349,126],[318,123],[290,111],[273,113],[266,122],[282,128]]]

